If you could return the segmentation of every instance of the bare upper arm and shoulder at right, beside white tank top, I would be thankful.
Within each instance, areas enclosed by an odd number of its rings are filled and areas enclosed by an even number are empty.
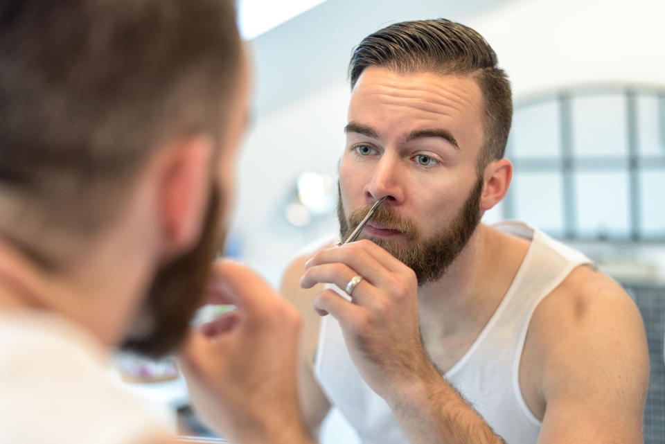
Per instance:
[[[612,279],[571,272],[535,310],[524,355],[544,409],[538,443],[642,443],[644,324]]]

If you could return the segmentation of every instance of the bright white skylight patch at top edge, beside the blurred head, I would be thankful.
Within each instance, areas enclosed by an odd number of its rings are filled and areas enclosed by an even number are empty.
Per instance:
[[[251,40],[326,0],[238,0],[238,27]]]

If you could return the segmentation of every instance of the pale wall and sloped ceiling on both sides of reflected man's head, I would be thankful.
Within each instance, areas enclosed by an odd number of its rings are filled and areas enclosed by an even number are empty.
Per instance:
[[[389,22],[442,16],[486,37],[516,100],[587,83],[665,84],[665,1],[328,0],[252,42],[256,120],[240,158],[233,232],[243,259],[272,283],[295,251],[336,229],[332,216],[290,227],[281,208],[299,172],[337,170],[351,48]]]

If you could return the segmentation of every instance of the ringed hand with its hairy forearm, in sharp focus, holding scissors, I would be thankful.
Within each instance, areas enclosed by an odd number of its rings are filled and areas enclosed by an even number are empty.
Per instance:
[[[391,407],[410,443],[502,442],[429,362],[420,341],[413,270],[369,240],[321,250],[305,269],[304,288],[345,288],[353,276],[363,277],[352,301],[324,290],[314,308],[339,321],[353,363]]]

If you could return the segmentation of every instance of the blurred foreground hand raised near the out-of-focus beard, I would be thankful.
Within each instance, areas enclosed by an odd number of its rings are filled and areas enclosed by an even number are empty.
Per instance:
[[[230,261],[213,266],[206,303],[238,310],[190,332],[179,357],[199,416],[234,443],[310,443],[296,393],[298,312]]]

